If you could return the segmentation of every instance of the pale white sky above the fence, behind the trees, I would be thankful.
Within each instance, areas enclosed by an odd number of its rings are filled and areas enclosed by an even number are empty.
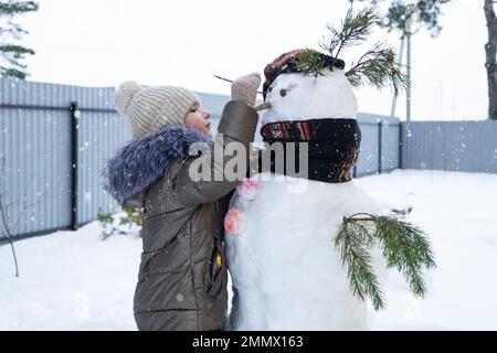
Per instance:
[[[412,41],[412,118],[484,119],[486,23],[483,0],[453,0],[443,8],[442,33],[421,31]],[[82,86],[180,85],[230,94],[236,78],[298,47],[319,49],[326,23],[339,24],[348,0],[159,1],[40,0],[20,19],[30,81]],[[370,42],[340,55],[350,65],[379,39],[399,47],[396,35],[378,30]],[[405,57],[405,56],[404,56]],[[358,90],[359,110],[390,115],[389,90]],[[396,114],[405,116],[405,96]]]

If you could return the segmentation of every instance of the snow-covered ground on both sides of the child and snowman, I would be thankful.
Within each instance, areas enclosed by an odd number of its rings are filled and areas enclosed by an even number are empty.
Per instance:
[[[413,205],[409,221],[431,236],[437,269],[415,299],[391,271],[388,309],[373,330],[497,330],[497,175],[394,171],[356,181],[387,207]],[[141,240],[101,226],[0,247],[0,330],[136,330],[133,296]]]

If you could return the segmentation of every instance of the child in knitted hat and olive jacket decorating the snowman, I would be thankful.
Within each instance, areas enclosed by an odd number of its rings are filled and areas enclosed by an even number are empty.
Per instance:
[[[228,309],[223,218],[241,180],[192,181],[194,142],[223,149],[237,141],[246,151],[258,116],[258,74],[232,84],[218,131],[210,114],[186,88],[141,88],[134,82],[115,93],[117,110],[129,119],[134,140],[106,162],[105,189],[121,204],[144,206],[144,252],[135,292],[139,330],[222,330]],[[213,154],[213,153],[212,153]],[[246,153],[248,156],[248,153]],[[229,159],[229,157],[226,157]],[[213,160],[212,171],[225,161]],[[245,161],[248,163],[248,159]]]

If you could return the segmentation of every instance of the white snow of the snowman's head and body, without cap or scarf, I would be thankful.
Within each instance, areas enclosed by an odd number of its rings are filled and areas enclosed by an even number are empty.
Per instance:
[[[263,126],[357,116],[352,87],[338,68],[317,77],[282,74],[266,100],[272,108]],[[343,217],[356,213],[382,208],[353,180],[327,183],[263,172],[240,184],[225,217],[234,293],[229,329],[367,329],[367,303],[351,293],[334,244]]]

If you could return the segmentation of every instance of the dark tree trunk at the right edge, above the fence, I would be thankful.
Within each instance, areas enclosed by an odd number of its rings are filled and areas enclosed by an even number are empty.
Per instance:
[[[488,43],[485,44],[485,67],[487,69],[488,81],[488,118],[497,120],[497,18],[494,12],[494,0],[485,0],[484,10],[488,30]]]

